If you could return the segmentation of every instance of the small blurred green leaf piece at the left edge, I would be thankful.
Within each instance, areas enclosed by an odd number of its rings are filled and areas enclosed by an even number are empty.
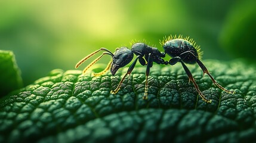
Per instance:
[[[20,70],[13,52],[0,50],[0,97],[21,88]]]

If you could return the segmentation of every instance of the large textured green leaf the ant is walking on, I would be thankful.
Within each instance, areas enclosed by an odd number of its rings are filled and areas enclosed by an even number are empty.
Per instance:
[[[202,101],[182,66],[153,65],[143,100],[145,67],[137,66],[116,95],[127,68],[91,77],[53,70],[0,101],[0,142],[254,142],[256,70],[240,61],[204,61],[215,87],[189,66],[211,104]],[[104,67],[102,67],[104,69]]]

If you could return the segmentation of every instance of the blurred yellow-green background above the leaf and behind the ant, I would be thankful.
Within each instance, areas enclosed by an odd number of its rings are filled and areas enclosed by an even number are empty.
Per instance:
[[[0,1],[0,49],[14,52],[24,85],[53,69],[75,69],[101,47],[114,51],[146,39],[163,51],[159,39],[171,34],[195,39],[203,59],[253,63],[255,5],[255,0]]]

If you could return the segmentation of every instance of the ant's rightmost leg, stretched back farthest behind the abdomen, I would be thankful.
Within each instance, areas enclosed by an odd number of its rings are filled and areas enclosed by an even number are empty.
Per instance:
[[[203,70],[203,75],[205,73],[208,74],[208,76],[211,78],[212,82],[215,85],[217,85],[218,88],[222,89],[223,91],[227,92],[228,94],[235,94],[235,91],[229,91],[226,88],[223,88],[223,86],[221,86],[218,82],[216,82],[214,77],[212,77],[212,75],[209,73],[208,69],[206,69],[205,65],[203,65],[203,63],[192,52],[189,51],[189,53],[193,56],[193,58],[196,60],[196,63],[198,63],[199,67],[201,67],[201,69]]]

